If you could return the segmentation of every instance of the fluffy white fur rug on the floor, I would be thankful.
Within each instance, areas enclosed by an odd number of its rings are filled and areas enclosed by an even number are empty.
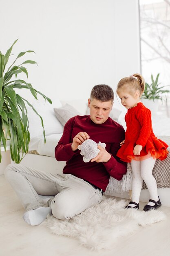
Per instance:
[[[56,235],[76,238],[90,249],[109,249],[120,236],[129,236],[146,225],[166,218],[160,210],[140,211],[124,209],[127,200],[103,196],[100,204],[86,209],[70,220],[48,216],[45,225]]]

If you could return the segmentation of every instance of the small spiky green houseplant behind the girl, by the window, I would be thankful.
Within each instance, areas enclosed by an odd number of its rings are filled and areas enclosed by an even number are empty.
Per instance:
[[[142,94],[142,99],[148,99],[155,101],[155,99],[160,99],[162,101],[162,94],[170,92],[169,90],[164,90],[164,86],[160,86],[160,83],[158,83],[159,74],[157,74],[156,79],[153,79],[153,75],[151,75],[152,83],[149,85],[148,83],[145,83],[145,90]]]

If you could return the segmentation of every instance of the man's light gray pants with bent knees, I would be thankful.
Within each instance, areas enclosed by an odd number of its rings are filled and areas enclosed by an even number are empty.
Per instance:
[[[9,164],[4,174],[26,211],[51,207],[55,218],[65,220],[102,200],[98,189],[71,174],[62,177],[21,164]]]

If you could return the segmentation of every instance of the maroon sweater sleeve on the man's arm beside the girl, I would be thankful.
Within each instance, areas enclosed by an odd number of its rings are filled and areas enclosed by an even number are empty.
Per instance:
[[[106,171],[110,176],[114,177],[117,180],[121,180],[123,175],[127,172],[127,164],[120,161],[119,157],[116,156],[117,151],[120,148],[120,142],[124,140],[125,131],[122,126],[120,126],[115,132],[115,143],[110,147],[111,158],[107,163],[103,163]]]

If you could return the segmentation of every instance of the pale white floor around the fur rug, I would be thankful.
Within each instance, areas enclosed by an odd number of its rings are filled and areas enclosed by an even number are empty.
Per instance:
[[[140,210],[145,203],[140,203]],[[161,207],[167,220],[128,237],[111,250],[92,252],[71,238],[51,234],[43,226],[31,227],[22,220],[24,209],[11,186],[0,176],[0,256],[170,256],[170,207]]]

